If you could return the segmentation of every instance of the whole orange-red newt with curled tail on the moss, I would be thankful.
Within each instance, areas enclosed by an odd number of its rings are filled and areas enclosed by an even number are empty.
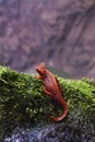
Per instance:
[[[38,64],[35,70],[39,73],[37,79],[44,81],[44,92],[63,106],[63,114],[59,117],[51,117],[55,121],[61,121],[68,115],[68,105],[61,96],[61,86],[58,79],[46,69],[44,63]]]

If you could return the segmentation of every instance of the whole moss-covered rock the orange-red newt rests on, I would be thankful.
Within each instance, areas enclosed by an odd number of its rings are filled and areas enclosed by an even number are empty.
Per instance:
[[[95,81],[58,78],[69,114],[44,93],[34,75],[0,66],[0,142],[95,142]],[[19,129],[16,129],[19,128]]]

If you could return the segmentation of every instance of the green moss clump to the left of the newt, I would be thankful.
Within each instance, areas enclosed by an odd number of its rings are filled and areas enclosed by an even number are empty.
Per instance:
[[[0,134],[16,126],[36,122],[51,111],[52,106],[49,98],[45,98],[41,85],[34,75],[0,66]]]

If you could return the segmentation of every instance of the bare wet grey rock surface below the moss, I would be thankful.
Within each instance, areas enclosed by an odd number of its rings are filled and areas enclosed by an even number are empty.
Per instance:
[[[87,130],[84,128],[85,123],[81,128],[78,123],[62,122],[59,125],[50,125],[43,127],[36,126],[32,130],[22,130],[20,128],[13,131],[10,138],[7,138],[4,142],[94,142],[95,135],[92,126],[88,125]]]

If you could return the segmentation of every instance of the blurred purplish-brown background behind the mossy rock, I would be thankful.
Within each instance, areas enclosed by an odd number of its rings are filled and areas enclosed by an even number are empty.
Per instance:
[[[0,0],[0,64],[33,73],[39,62],[95,79],[95,0]]]

